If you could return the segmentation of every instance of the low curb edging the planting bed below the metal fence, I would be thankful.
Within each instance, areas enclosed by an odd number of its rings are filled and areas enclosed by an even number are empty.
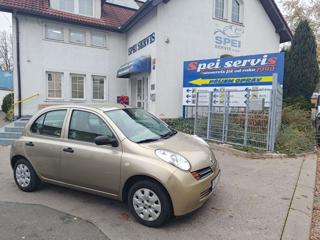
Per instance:
[[[234,149],[232,145],[228,144],[218,144],[214,142],[207,142],[211,149],[215,151],[225,152],[229,154],[233,154],[236,157],[242,157],[247,159],[292,159],[292,158],[312,158],[315,156],[316,151],[309,152],[309,153],[301,153],[297,154],[295,157],[290,157],[287,154],[280,154],[280,153],[272,153],[272,152],[244,152],[238,149]]]

